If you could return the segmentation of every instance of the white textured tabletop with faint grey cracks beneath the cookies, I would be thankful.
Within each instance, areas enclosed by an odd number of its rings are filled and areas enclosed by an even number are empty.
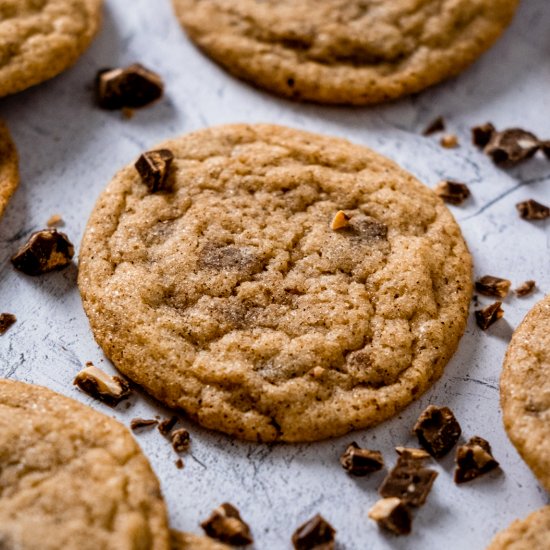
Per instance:
[[[536,279],[537,293],[505,300],[505,319],[486,333],[471,316],[459,352],[435,387],[398,418],[376,429],[311,445],[258,445],[232,441],[186,425],[192,450],[177,470],[174,454],[156,430],[137,436],[162,481],[173,525],[199,531],[219,503],[237,505],[250,523],[257,549],[290,548],[294,529],[321,512],[338,530],[339,549],[483,548],[499,529],[548,502],[512,447],[501,423],[498,377],[511,332],[550,291],[549,223],[520,220],[515,203],[550,202],[550,163],[543,158],[502,171],[469,142],[469,128],[492,121],[523,126],[550,138],[550,10],[548,0],[524,0],[504,38],[459,78],[415,98],[375,109],[298,105],[256,91],[225,74],[196,51],[180,30],[168,0],[107,2],[104,28],[78,65],[54,81],[0,100],[18,144],[22,185],[0,221],[0,309],[18,322],[0,338],[0,375],[44,384],[128,424],[162,411],[136,395],[112,411],[71,385],[86,361],[106,369],[81,307],[76,268],[40,278],[16,273],[10,255],[28,234],[59,213],[78,245],[88,215],[114,172],[157,142],[226,122],[276,122],[347,137],[393,158],[433,186],[442,177],[470,185],[473,199],[453,208],[475,260],[476,276]],[[166,98],[131,120],[92,104],[96,71],[140,61],[157,69]],[[420,130],[437,115],[462,146],[446,150]],[[490,299],[482,298],[483,304]],[[393,447],[414,444],[410,429],[428,404],[450,406],[465,437],[492,444],[502,473],[457,487],[452,456],[439,471],[414,532],[395,538],[367,519],[383,474],[346,475],[338,457],[356,440],[380,449],[393,464]]]

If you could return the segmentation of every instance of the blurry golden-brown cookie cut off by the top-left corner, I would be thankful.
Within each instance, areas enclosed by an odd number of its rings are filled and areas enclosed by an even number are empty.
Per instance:
[[[0,0],[0,97],[58,75],[99,30],[103,0]]]

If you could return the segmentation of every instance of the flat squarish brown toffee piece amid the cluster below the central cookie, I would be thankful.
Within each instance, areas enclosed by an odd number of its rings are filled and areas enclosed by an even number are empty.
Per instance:
[[[402,454],[397,459],[397,464],[391,470],[382,485],[380,496],[385,498],[397,497],[404,504],[410,506],[422,506],[437,477],[435,470],[424,468],[423,459],[412,458],[408,453]]]

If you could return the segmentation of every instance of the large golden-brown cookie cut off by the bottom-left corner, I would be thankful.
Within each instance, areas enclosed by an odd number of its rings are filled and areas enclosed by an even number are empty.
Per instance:
[[[168,550],[159,483],[126,428],[0,380],[0,548]]]

